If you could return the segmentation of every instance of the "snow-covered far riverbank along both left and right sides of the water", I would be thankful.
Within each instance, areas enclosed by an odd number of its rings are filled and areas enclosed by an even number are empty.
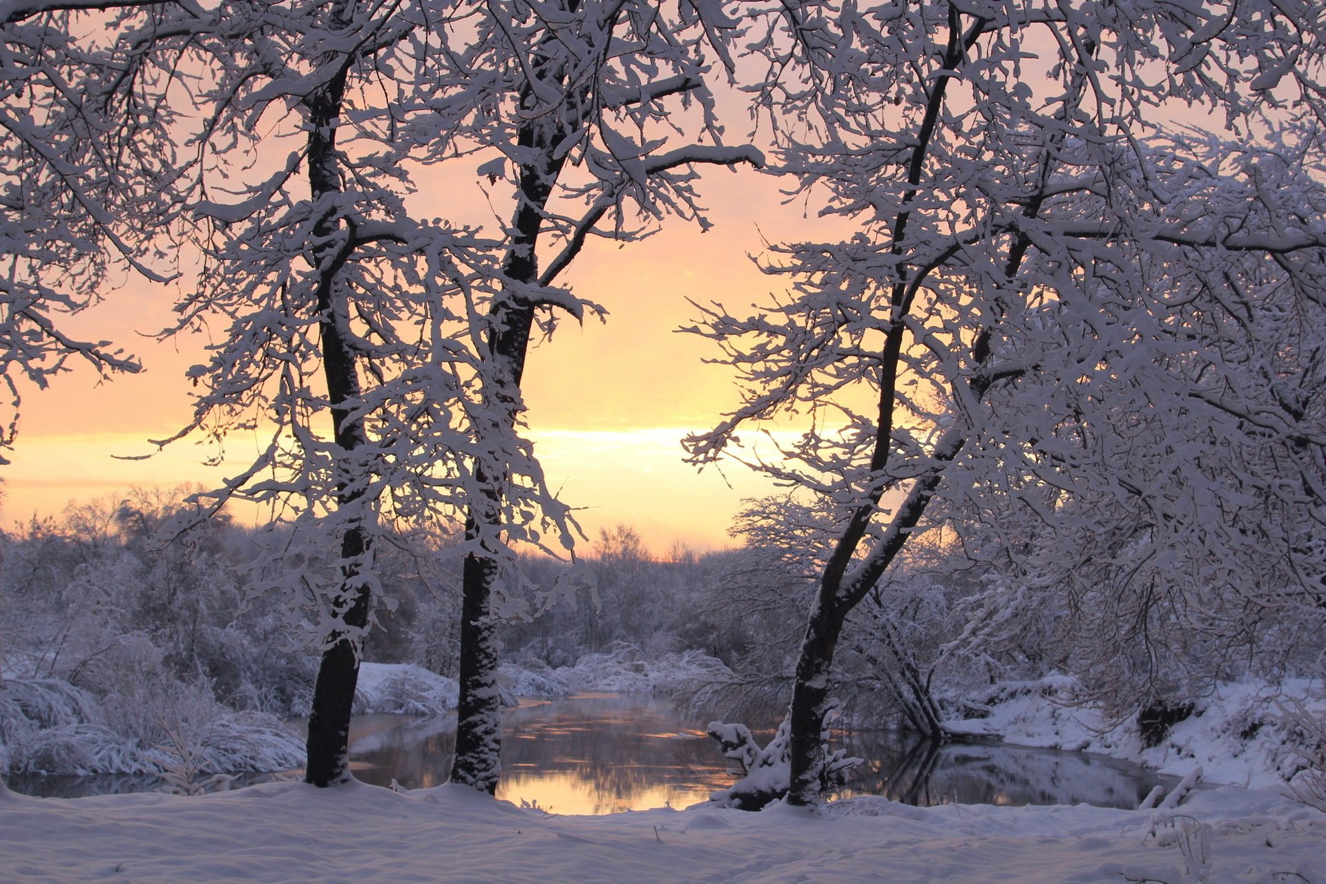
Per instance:
[[[646,656],[634,648],[585,655],[573,667],[505,663],[500,687],[517,697],[578,692],[656,691],[684,697],[688,685],[720,680],[721,663],[697,652]],[[1326,717],[1317,685],[1290,680],[1227,684],[1203,698],[1147,745],[1135,720],[1113,729],[1091,706],[1073,705],[1071,681],[1049,677],[997,685],[981,704],[987,717],[949,721],[956,733],[1008,744],[1098,753],[1185,777],[1201,767],[1205,783],[1278,787],[1299,774],[1311,736],[1285,721],[1284,706],[1305,701]],[[453,679],[418,665],[365,663],[355,713],[442,714],[455,709]],[[0,773],[159,773],[188,767],[199,775],[273,771],[302,763],[302,738],[272,716],[237,713],[208,697],[152,697],[139,714],[101,702],[64,683],[9,680],[0,689]],[[184,702],[188,700],[188,702]],[[187,714],[183,714],[187,713]],[[179,745],[147,738],[147,725],[176,721]],[[146,724],[145,724],[146,722]]]

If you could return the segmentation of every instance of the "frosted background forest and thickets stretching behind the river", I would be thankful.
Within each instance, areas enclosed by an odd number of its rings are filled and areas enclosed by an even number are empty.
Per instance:
[[[0,632],[0,770],[155,774],[198,790],[224,774],[302,763],[288,721],[306,716],[313,696],[317,656],[297,637],[308,624],[245,587],[255,545],[269,542],[261,533],[224,517],[180,537],[163,533],[184,496],[139,489],[0,534],[9,615]],[[743,545],[724,551],[674,549],[660,559],[630,527],[605,531],[572,594],[558,588],[561,562],[526,557],[526,591],[538,602],[500,624],[503,702],[648,689],[692,718],[772,729],[786,708],[814,580],[805,562],[760,545],[773,502],[751,501]],[[379,563],[398,604],[366,636],[363,659],[407,667],[361,692],[355,710],[455,709],[463,555],[446,539],[420,547],[402,534]],[[1070,622],[1066,611],[1040,611],[1017,643],[964,643],[984,616],[981,583],[960,546],[918,545],[849,623],[833,685],[837,725],[945,740],[980,733],[1000,704],[1032,697],[1085,704],[1090,720],[1154,746],[1212,693],[1246,683],[1260,685],[1261,701],[1225,726],[1244,738],[1276,732],[1289,744],[1277,762],[1286,781],[1319,750],[1310,716],[1296,724],[1274,702],[1285,680],[1307,698],[1302,679],[1326,649],[1319,634],[1265,648],[1231,637],[1217,655],[1200,647],[1203,636],[1193,651],[1176,651],[1185,668],[1144,704],[1111,705],[1113,673],[1093,669],[1099,655],[1089,636],[1057,628]],[[1217,663],[1201,668],[1204,660]]]

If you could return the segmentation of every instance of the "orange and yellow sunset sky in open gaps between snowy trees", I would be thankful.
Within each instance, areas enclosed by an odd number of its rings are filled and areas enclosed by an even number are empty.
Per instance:
[[[475,205],[484,205],[477,182],[471,187]],[[806,221],[801,208],[781,204],[776,179],[753,171],[711,168],[701,193],[715,207],[708,233],[672,220],[640,243],[586,247],[562,281],[606,306],[607,322],[564,322],[533,350],[525,375],[536,452],[562,498],[583,508],[578,518],[586,533],[593,538],[601,527],[627,524],[655,554],[678,542],[732,545],[727,529],[740,501],[773,490],[737,464],[720,474],[682,461],[680,437],[712,425],[737,403],[737,392],[729,370],[703,363],[717,350],[675,329],[697,318],[688,297],[721,298],[739,311],[762,301],[778,281],[761,274],[748,253],[762,249],[761,233],[805,236]],[[200,343],[151,338],[170,322],[172,297],[131,281],[76,318],[85,335],[113,338],[138,354],[145,371],[97,384],[80,368],[49,390],[25,391],[12,464],[0,468],[0,526],[57,514],[69,501],[133,486],[208,485],[236,472],[245,455],[239,439],[232,440],[235,461],[221,467],[204,467],[207,452],[191,440],[146,461],[114,457],[150,453],[149,439],[187,423],[183,372],[199,360]]]

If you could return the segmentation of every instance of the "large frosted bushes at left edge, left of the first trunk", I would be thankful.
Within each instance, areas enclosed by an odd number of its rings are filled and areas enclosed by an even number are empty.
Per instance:
[[[245,608],[229,567],[243,543],[224,520],[159,539],[171,500],[135,492],[0,538],[4,767],[158,773],[180,753],[211,771],[302,762],[265,713],[306,708],[310,660],[280,618]]]

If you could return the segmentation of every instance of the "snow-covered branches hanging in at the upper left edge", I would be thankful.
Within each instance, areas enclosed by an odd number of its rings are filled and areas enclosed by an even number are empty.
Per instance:
[[[138,371],[66,315],[150,266],[152,199],[170,168],[170,119],[141,101],[109,42],[106,11],[141,3],[32,0],[0,8],[0,451],[13,443],[24,384],[41,390],[82,363],[101,376]],[[135,221],[127,219],[133,216]],[[0,464],[8,463],[0,455]]]

